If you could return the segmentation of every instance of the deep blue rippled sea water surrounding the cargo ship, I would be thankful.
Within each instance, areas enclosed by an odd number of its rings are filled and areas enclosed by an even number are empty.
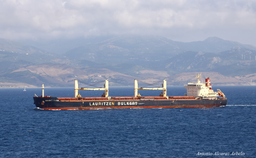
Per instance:
[[[0,157],[256,157],[256,86],[217,88],[227,106],[58,111],[35,107],[40,88],[0,89]],[[184,93],[180,86],[167,88],[169,96]],[[73,97],[74,88],[45,88],[45,95]],[[109,96],[132,95],[133,87],[109,88]]]

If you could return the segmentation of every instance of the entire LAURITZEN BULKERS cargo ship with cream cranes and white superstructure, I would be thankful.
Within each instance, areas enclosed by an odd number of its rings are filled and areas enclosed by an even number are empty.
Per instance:
[[[200,82],[201,73],[196,75],[196,83],[184,85],[187,93],[184,96],[167,96],[166,79],[162,87],[143,88],[138,87],[138,81],[134,80],[133,97],[109,97],[108,80],[104,88],[79,88],[78,80],[75,80],[74,97],[51,97],[43,95],[37,97],[35,94],[34,104],[37,108],[46,110],[80,110],[80,109],[123,109],[123,108],[175,108],[175,107],[214,107],[227,105],[227,98],[217,89],[212,90],[209,77],[205,83]],[[101,97],[82,97],[78,90],[105,90]],[[163,90],[159,97],[143,97],[138,90]]]

